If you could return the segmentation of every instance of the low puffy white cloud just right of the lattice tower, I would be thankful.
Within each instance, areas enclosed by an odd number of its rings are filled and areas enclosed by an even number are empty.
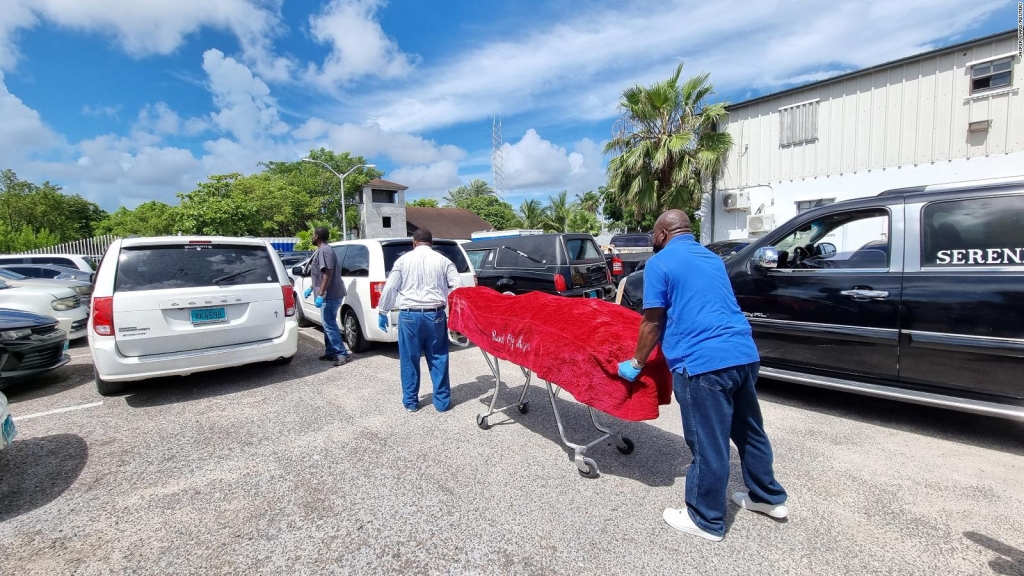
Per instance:
[[[601,147],[589,138],[568,152],[530,128],[518,142],[505,142],[502,155],[509,191],[563,188],[577,193],[594,190],[605,181]]]

